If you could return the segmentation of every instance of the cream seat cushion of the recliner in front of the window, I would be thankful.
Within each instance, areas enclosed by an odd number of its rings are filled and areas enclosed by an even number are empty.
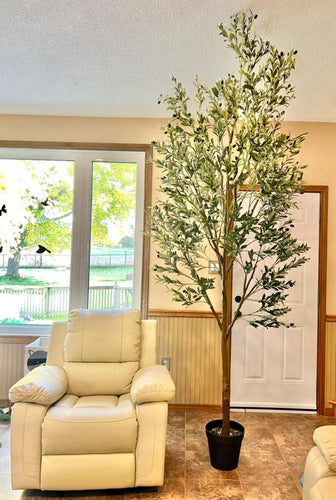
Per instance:
[[[42,424],[43,455],[134,452],[135,408],[129,394],[66,394],[49,408]]]

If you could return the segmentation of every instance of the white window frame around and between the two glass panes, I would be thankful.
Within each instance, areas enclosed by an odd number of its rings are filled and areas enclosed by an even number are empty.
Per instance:
[[[141,309],[145,210],[145,152],[77,149],[1,148],[0,159],[74,161],[69,310],[87,308],[89,296],[91,195],[94,162],[136,163],[133,307]],[[51,325],[1,325],[0,334],[48,335]]]

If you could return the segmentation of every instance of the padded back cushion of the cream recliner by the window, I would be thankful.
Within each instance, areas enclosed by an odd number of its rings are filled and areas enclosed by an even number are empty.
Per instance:
[[[141,314],[76,309],[69,315],[64,343],[68,393],[121,395],[139,369]]]

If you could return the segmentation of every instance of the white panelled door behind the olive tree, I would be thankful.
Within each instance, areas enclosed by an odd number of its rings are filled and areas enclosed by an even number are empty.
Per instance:
[[[286,320],[293,328],[253,328],[244,319],[233,328],[231,406],[244,408],[316,409],[318,314],[318,193],[298,195],[293,236],[306,242],[309,261],[292,270]],[[234,298],[240,295],[240,266],[233,270]]]

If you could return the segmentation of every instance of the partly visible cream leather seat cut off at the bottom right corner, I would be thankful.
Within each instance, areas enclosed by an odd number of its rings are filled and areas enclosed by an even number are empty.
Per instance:
[[[303,500],[336,499],[336,425],[315,429],[315,446],[307,455]]]

